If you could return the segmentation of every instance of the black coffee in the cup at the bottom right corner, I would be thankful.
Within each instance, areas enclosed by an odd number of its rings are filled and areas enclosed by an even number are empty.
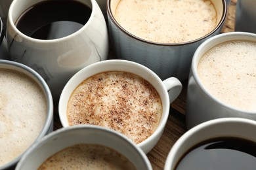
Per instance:
[[[175,169],[256,169],[256,143],[235,137],[204,141],[184,154]]]

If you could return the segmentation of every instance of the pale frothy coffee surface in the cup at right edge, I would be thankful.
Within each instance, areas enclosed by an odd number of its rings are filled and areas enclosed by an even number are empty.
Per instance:
[[[209,93],[237,109],[256,111],[256,42],[223,42],[205,53],[198,74]]]

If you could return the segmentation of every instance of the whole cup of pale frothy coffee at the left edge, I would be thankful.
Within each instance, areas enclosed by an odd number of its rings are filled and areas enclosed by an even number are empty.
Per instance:
[[[53,99],[38,73],[14,61],[0,60],[0,86],[0,169],[9,169],[53,131]]]

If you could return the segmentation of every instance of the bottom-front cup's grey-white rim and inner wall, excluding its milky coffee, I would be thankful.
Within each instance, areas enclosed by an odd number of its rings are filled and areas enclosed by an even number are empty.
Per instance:
[[[77,125],[58,129],[45,136],[24,154],[17,170],[37,169],[56,152],[75,144],[99,144],[113,148],[125,156],[137,169],[152,169],[146,154],[121,133],[100,126]]]

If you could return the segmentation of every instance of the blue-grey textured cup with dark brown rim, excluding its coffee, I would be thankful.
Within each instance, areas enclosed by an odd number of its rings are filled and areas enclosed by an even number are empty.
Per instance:
[[[226,18],[226,1],[212,0],[217,10],[217,25],[207,35],[189,42],[159,43],[141,39],[119,25],[114,18],[120,0],[108,0],[106,4],[108,14],[108,28],[110,42],[117,58],[135,61],[154,71],[162,80],[175,76],[179,80],[186,80],[192,56],[196,48],[206,39],[221,33]],[[130,16],[127,16],[130,17]]]

